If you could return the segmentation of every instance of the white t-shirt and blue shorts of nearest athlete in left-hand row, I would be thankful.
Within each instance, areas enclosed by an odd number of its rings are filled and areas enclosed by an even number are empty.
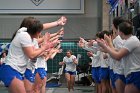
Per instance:
[[[26,32],[27,28],[21,28],[17,31],[16,36],[11,42],[6,64],[0,69],[0,79],[5,86],[9,86],[16,77],[23,80],[23,74],[26,70],[29,58],[25,55],[23,47],[32,47],[33,42],[31,36]]]

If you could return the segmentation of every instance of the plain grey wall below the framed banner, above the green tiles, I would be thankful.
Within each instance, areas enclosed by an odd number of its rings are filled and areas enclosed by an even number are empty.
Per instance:
[[[0,15],[0,39],[10,39],[12,34],[18,29],[24,17],[34,16],[44,22],[51,22],[60,16],[66,16],[68,23],[65,26],[64,39],[77,39],[80,36],[90,39],[93,38],[97,31],[102,27],[102,0],[85,0],[84,14],[44,14],[44,15]],[[48,30],[56,32],[60,27]]]

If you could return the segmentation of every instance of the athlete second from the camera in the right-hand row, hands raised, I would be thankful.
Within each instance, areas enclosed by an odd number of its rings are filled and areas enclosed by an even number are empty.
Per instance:
[[[116,17],[113,19],[112,24],[112,37],[110,42],[113,42],[114,50],[119,50],[124,40],[118,35],[118,26],[120,23],[124,22],[125,20],[122,17]],[[125,77],[123,73],[123,66],[122,66],[122,59],[117,61],[110,57],[109,55],[109,67],[110,67],[110,79],[111,79],[111,87],[113,93],[124,93],[125,87]]]

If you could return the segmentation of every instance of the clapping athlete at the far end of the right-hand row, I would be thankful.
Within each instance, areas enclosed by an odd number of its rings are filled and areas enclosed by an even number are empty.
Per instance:
[[[97,87],[96,90],[100,93],[101,92],[101,81],[100,81],[100,51],[98,44],[95,40],[92,40],[91,42],[85,41],[83,38],[80,38],[80,41],[78,43],[79,47],[91,51],[94,53],[92,55],[92,78],[94,79]]]

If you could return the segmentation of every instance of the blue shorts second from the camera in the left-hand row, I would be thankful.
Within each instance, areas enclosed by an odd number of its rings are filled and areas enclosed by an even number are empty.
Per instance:
[[[24,77],[32,83],[35,81],[35,74],[30,69],[26,69]]]

